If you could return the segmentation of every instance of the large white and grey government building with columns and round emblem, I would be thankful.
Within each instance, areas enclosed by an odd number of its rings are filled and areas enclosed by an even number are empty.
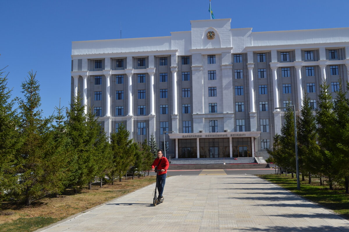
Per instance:
[[[72,96],[107,135],[153,133],[172,158],[267,157],[283,110],[349,80],[349,28],[252,32],[231,19],[170,36],[72,42]],[[171,131],[163,133],[163,131]]]

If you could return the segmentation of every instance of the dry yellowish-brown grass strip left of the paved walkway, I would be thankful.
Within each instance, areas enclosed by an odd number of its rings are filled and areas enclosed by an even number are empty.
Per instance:
[[[0,209],[0,232],[35,231],[154,182],[155,176],[147,176],[135,177],[133,180],[131,177],[127,181],[124,178],[122,182],[104,184],[102,188],[96,183],[91,190],[83,189],[81,193],[73,194],[73,190],[68,189],[59,198],[33,201],[30,207],[3,202]]]

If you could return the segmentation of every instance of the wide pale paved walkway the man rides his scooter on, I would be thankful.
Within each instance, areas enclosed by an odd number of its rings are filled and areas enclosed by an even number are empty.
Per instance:
[[[149,185],[41,231],[349,232],[348,220],[256,176],[218,170],[171,176],[164,202],[155,207],[154,189]]]

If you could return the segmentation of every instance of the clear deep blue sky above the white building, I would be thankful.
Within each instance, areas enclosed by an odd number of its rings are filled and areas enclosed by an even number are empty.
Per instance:
[[[348,0],[212,0],[215,18],[232,28],[283,31],[349,27]],[[22,97],[28,71],[37,72],[44,116],[69,106],[72,41],[169,36],[209,19],[208,0],[10,0],[0,3],[0,69]],[[349,41],[349,38],[348,38]]]

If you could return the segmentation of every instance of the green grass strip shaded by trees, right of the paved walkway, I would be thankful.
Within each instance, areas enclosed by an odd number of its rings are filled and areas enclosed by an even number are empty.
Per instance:
[[[345,193],[344,188],[329,190],[328,185],[320,186],[319,179],[313,178],[312,184],[308,184],[308,180],[300,180],[300,190],[297,190],[297,180],[285,175],[257,175],[267,181],[284,187],[291,192],[296,193],[306,199],[319,203],[328,209],[332,209],[335,213],[341,214],[349,218],[349,194]]]

